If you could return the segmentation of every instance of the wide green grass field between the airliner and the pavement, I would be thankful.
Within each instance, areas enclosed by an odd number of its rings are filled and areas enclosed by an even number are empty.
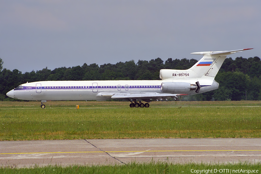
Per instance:
[[[76,105],[80,109],[75,109]],[[261,137],[261,102],[0,102],[0,140]]]

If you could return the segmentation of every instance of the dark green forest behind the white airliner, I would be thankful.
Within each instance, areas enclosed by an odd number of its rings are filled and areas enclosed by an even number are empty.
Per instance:
[[[6,96],[9,90],[20,84],[34,81],[55,80],[160,80],[160,69],[189,69],[195,59],[160,59],[150,61],[134,60],[117,64],[84,64],[82,66],[61,67],[49,70],[47,67],[36,72],[21,73],[3,68],[0,58],[0,101],[15,100]],[[202,94],[182,97],[188,101],[261,100],[261,61],[259,57],[248,59],[226,58],[215,80],[219,89]]]

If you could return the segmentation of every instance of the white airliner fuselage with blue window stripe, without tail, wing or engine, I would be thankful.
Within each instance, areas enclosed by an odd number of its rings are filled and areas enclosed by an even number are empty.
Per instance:
[[[115,80],[115,81],[38,81],[22,84],[7,93],[23,100],[108,100],[115,93],[174,93],[162,91],[162,83],[170,80]],[[171,80],[173,81],[173,80]],[[180,82],[182,80],[178,80]],[[186,80],[187,81],[187,80]],[[189,82],[194,84],[197,79]],[[213,80],[200,81],[200,93],[218,88]],[[193,95],[195,90],[182,94]]]

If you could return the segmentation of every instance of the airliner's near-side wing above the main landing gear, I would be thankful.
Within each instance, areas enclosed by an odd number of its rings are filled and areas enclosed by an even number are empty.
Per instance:
[[[185,96],[187,94],[168,94],[168,93],[101,93],[101,97],[111,97],[111,99],[142,99],[145,102],[149,102],[151,99],[167,100],[170,98],[176,99],[177,97]]]

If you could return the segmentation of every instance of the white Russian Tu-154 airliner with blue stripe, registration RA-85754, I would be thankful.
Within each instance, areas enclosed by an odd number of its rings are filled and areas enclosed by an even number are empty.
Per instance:
[[[161,69],[161,80],[37,81],[21,84],[6,95],[15,99],[40,100],[41,108],[48,100],[128,100],[130,107],[148,108],[151,100],[204,93],[218,89],[215,81],[226,55],[253,48],[232,51],[193,52],[203,55],[187,70]],[[146,102],[145,104],[142,101]]]

